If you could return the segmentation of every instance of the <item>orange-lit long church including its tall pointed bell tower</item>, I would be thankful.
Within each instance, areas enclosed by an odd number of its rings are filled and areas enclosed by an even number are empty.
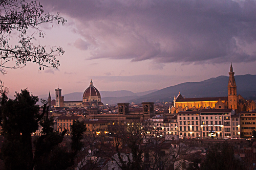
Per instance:
[[[198,111],[205,108],[233,109],[236,110],[237,113],[240,113],[241,111],[254,110],[254,101],[246,101],[241,95],[237,96],[237,85],[234,80],[232,63],[230,64],[230,72],[228,74],[227,97],[183,98],[179,92],[177,98],[174,96],[174,105],[169,108],[169,113],[178,113],[179,111]]]

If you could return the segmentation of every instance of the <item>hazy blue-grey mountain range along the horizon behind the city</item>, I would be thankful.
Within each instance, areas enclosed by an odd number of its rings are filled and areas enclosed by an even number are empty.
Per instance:
[[[237,84],[237,93],[245,99],[256,99],[256,75],[234,76]],[[140,93],[132,91],[100,91],[103,104],[117,104],[120,102],[173,102],[174,95],[179,91],[185,98],[204,98],[227,96],[227,76],[210,78],[201,82],[187,82],[161,90],[150,90]],[[83,92],[64,94],[65,101],[81,101]],[[39,98],[48,98],[48,95],[40,95]],[[53,98],[52,98],[53,99]]]

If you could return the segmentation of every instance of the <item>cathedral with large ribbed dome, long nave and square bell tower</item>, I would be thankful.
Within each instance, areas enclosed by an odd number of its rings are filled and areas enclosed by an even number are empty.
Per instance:
[[[90,86],[84,91],[82,101],[64,101],[64,96],[61,95],[61,89],[55,89],[56,94],[56,105],[55,107],[101,107],[101,96],[97,88],[93,86],[91,80]],[[50,94],[49,94],[50,95]]]

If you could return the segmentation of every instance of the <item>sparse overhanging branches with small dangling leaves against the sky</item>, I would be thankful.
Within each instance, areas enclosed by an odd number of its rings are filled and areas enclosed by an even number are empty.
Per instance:
[[[57,68],[59,61],[56,56],[63,55],[61,47],[53,46],[47,49],[43,45],[35,45],[36,34],[44,37],[44,31],[39,29],[42,23],[64,23],[66,19],[59,13],[45,13],[38,1],[25,0],[0,1],[0,72],[6,74],[6,68],[22,68],[28,62],[44,67]],[[15,63],[12,63],[14,61]],[[3,84],[1,83],[3,87]]]

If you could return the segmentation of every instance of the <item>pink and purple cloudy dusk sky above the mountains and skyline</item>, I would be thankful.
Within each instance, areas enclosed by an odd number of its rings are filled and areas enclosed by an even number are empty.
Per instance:
[[[183,82],[256,74],[256,1],[42,0],[67,19],[41,25],[35,43],[61,46],[58,69],[28,63],[1,75],[9,96],[99,91],[142,92]],[[53,27],[52,27],[53,25]],[[177,92],[178,93],[178,92]]]

